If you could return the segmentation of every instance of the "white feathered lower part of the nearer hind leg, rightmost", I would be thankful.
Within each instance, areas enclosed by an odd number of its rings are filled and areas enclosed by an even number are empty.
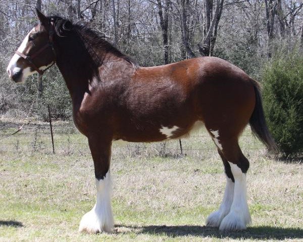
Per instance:
[[[235,179],[234,197],[230,212],[222,220],[220,230],[241,230],[251,222],[246,198],[246,174],[231,162],[231,172]]]

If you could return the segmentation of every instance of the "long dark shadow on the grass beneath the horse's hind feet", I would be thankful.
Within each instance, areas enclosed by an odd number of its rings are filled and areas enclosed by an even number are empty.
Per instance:
[[[246,230],[236,232],[220,232],[217,228],[207,226],[194,225],[149,225],[149,226],[128,226],[116,225],[120,228],[129,228],[136,233],[147,233],[151,235],[167,235],[176,236],[201,236],[201,237],[217,237],[217,238],[250,238],[250,239],[284,239],[284,238],[303,238],[303,229],[301,228],[281,228],[270,226],[251,227]]]

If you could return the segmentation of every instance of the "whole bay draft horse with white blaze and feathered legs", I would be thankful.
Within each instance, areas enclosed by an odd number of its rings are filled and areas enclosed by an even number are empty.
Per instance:
[[[246,198],[249,162],[238,138],[249,123],[269,148],[259,84],[238,67],[216,57],[139,67],[85,24],[59,16],[39,19],[7,68],[15,82],[56,63],[70,92],[73,119],[87,137],[96,181],[96,203],[79,231],[110,232],[110,156],[113,140],[157,142],[176,139],[203,123],[222,158],[226,189],[207,225],[241,230],[250,223]]]

